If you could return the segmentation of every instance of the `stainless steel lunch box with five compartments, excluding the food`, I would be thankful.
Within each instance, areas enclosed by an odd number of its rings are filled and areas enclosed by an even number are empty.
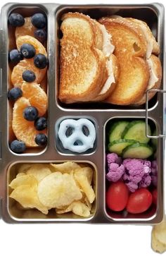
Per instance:
[[[49,56],[48,70],[48,96],[49,96],[49,143],[42,152],[28,152],[27,154],[14,154],[8,147],[8,118],[9,105],[7,99],[8,92],[8,15],[12,11],[31,16],[32,13],[42,11],[48,18],[48,38],[47,52]],[[8,223],[46,223],[46,222],[82,222],[82,223],[107,223],[107,224],[155,224],[162,221],[163,217],[163,190],[164,190],[164,136],[163,136],[163,116],[165,84],[162,74],[161,90],[148,102],[146,106],[113,106],[103,103],[94,104],[62,104],[58,101],[59,83],[59,27],[60,17],[68,11],[79,11],[88,14],[91,18],[101,18],[117,14],[124,17],[134,17],[145,20],[160,44],[160,61],[162,71],[164,64],[164,7],[162,4],[127,4],[127,5],[60,5],[60,4],[6,4],[1,9],[0,22],[0,208],[1,218]],[[72,117],[88,117],[96,126],[96,147],[89,154],[68,154],[60,152],[56,140],[55,129],[59,120]],[[113,118],[143,118],[148,123],[151,120],[158,128],[158,207],[156,212],[149,212],[141,217],[118,217],[108,215],[106,212],[106,126]],[[96,202],[93,214],[90,218],[84,219],[73,217],[67,214],[56,217],[50,214],[43,217],[39,212],[29,212],[27,217],[23,217],[21,209],[15,209],[13,201],[8,199],[8,182],[15,173],[15,166],[28,162],[63,162],[67,160],[89,162],[94,166],[94,183],[96,187]]]

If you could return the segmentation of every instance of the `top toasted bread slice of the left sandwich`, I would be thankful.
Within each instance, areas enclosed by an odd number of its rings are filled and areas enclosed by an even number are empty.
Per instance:
[[[66,13],[62,20],[58,97],[65,103],[91,101],[103,87],[106,69],[102,32],[82,13]]]

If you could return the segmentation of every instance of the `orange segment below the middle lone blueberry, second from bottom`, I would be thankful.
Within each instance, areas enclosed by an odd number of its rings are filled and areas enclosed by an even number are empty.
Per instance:
[[[46,92],[37,85],[37,83],[23,83],[21,89],[23,90],[23,97],[29,99],[30,104],[35,106],[39,111],[39,116],[46,113],[47,96]]]

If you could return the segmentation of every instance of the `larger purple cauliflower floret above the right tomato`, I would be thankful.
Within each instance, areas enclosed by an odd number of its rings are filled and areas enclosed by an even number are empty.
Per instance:
[[[131,192],[134,192],[139,187],[146,187],[146,184],[151,184],[151,161],[142,159],[125,159],[125,174],[123,180]],[[150,177],[150,178],[149,178]]]

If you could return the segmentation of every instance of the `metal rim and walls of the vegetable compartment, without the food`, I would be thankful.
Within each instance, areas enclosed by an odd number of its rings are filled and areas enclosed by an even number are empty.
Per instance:
[[[110,118],[108,120],[108,122],[106,123],[106,130],[105,130],[105,139],[106,139],[106,144],[105,144],[105,154],[107,155],[108,153],[110,153],[108,151],[108,134],[109,134],[109,130],[111,125],[113,126],[113,123],[115,123],[116,121],[145,121],[145,118],[126,118],[126,117],[118,117],[118,118]],[[151,128],[151,132],[153,133],[154,130],[157,130],[157,134],[160,133],[160,127],[158,126],[158,123],[153,120],[153,119],[148,119],[148,125]],[[127,221],[130,220],[140,220],[140,221],[146,221],[147,220],[156,220],[156,219],[162,219],[162,211],[163,211],[163,196],[162,196],[162,187],[163,187],[163,169],[162,166],[160,165],[161,163],[161,156],[160,156],[160,139],[156,139],[157,140],[157,147],[156,147],[156,151],[154,150],[153,155],[151,157],[148,158],[149,161],[153,161],[155,160],[155,156],[156,156],[156,161],[157,161],[157,169],[158,169],[158,185],[157,185],[157,190],[158,190],[158,199],[157,199],[157,207],[155,207],[153,204],[151,205],[151,207],[149,207],[149,209],[146,212],[143,212],[141,214],[131,214],[131,213],[127,213],[126,210],[122,211],[122,212],[114,212],[110,209],[108,209],[108,206],[106,205],[106,200],[105,200],[105,211],[106,214],[108,216],[108,218],[110,218],[111,220],[114,221],[122,221],[122,219],[126,219]],[[152,144],[151,140],[148,142],[148,145],[150,145],[151,147],[154,148],[154,145]],[[107,162],[105,163],[105,168],[106,168],[106,173],[108,173],[108,165]],[[108,181],[106,179],[106,183],[105,183],[105,193],[108,190],[108,187],[110,185],[110,181]],[[153,185],[151,185],[149,187],[149,190],[152,191],[153,188],[155,188]]]

